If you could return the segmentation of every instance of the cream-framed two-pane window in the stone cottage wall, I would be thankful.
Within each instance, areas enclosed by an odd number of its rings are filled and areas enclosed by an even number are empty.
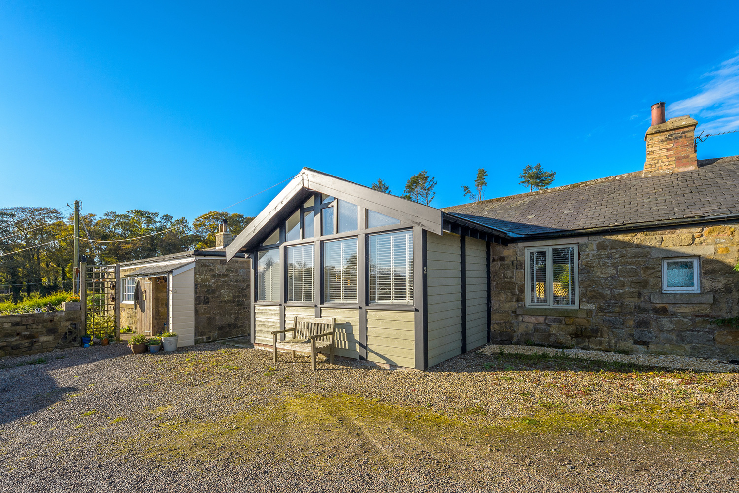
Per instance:
[[[525,248],[527,307],[579,307],[577,245]]]

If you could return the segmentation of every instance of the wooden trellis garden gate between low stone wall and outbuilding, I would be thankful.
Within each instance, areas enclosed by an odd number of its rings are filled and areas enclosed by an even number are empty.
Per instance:
[[[118,299],[116,296],[119,273],[115,265],[80,266],[84,272],[84,290],[80,301],[85,309],[85,327],[89,336],[119,338]]]

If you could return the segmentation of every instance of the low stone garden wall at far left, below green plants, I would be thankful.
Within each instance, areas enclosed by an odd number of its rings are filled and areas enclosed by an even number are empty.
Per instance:
[[[82,310],[0,315],[0,357],[79,346]]]

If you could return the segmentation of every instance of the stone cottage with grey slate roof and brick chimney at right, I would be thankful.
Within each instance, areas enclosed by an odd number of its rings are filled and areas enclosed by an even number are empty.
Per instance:
[[[491,336],[739,359],[739,156],[697,160],[689,116],[653,106],[644,169],[457,205],[491,248]]]

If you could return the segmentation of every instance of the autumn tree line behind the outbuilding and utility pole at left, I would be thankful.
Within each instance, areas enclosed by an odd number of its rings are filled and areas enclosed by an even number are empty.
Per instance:
[[[212,248],[224,219],[238,233],[253,217],[209,211],[190,224],[184,217],[143,209],[80,214],[79,251],[89,263],[110,265]],[[154,234],[160,231],[165,232]],[[10,293],[16,302],[21,293],[72,290],[73,235],[73,214],[49,207],[0,208],[0,293]]]

